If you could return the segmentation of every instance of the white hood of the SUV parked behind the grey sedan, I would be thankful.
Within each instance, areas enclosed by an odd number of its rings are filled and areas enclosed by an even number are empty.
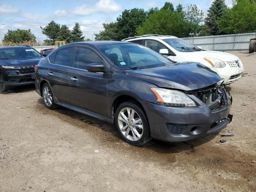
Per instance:
[[[212,57],[224,62],[228,61],[237,61],[239,58],[233,54],[220,52],[220,51],[196,51],[196,52],[187,52],[186,54],[200,54],[201,57]]]

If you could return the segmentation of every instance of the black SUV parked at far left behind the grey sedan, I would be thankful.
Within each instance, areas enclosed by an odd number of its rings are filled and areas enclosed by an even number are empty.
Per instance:
[[[44,57],[29,46],[0,48],[0,90],[34,84],[34,66]]]

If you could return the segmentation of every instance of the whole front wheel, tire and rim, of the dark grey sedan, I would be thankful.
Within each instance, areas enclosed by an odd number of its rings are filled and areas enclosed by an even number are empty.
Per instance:
[[[115,113],[115,123],[122,138],[132,145],[142,146],[150,140],[146,114],[136,102],[120,104]]]

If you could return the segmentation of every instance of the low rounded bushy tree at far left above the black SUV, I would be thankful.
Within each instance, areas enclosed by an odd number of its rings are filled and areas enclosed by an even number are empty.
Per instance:
[[[30,29],[8,30],[4,35],[4,42],[24,43],[28,41],[36,42],[36,36],[31,33]]]

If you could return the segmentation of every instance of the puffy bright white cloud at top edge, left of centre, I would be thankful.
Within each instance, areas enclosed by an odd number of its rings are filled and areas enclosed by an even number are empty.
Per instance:
[[[77,15],[90,15],[93,13],[109,14],[119,12],[122,6],[114,0],[100,0],[94,6],[87,6],[86,4],[75,8],[74,13]]]

